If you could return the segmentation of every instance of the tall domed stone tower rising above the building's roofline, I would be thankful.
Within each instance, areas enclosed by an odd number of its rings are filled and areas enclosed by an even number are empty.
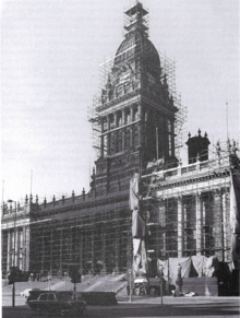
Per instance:
[[[134,173],[164,157],[176,165],[175,106],[158,51],[148,39],[147,10],[136,2],[124,12],[124,39],[103,63],[104,85],[91,117],[98,150],[95,191],[129,188]]]

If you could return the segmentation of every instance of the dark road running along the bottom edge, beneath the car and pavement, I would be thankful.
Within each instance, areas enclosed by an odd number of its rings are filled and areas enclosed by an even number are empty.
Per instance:
[[[127,299],[125,299],[127,301]],[[160,298],[134,299],[133,303],[119,302],[117,306],[87,306],[83,318],[133,318],[133,317],[240,317],[240,297],[194,297],[194,298],[173,298],[164,297],[164,305],[160,306]],[[26,306],[2,307],[1,317],[3,318],[28,318],[38,317]],[[40,316],[43,318],[49,316]],[[51,317],[59,317],[51,316]]]

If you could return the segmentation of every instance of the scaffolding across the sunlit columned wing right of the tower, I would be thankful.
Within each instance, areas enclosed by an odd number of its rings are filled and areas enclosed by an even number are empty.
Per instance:
[[[214,158],[142,177],[149,259],[201,255],[231,269],[230,169],[237,143],[217,143]],[[155,268],[156,269],[156,268]]]

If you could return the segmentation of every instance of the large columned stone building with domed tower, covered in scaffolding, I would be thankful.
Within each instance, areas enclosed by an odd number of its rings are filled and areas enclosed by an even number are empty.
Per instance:
[[[133,258],[129,191],[135,173],[148,275],[156,274],[158,259],[172,257],[216,256],[232,263],[229,193],[231,174],[239,169],[237,146],[228,142],[209,160],[207,134],[199,131],[189,136],[189,164],[182,166],[178,150],[185,108],[175,89],[173,63],[148,39],[147,10],[137,2],[124,13],[124,39],[103,63],[101,94],[89,109],[97,151],[91,190],[43,203],[31,195],[16,209],[3,203],[2,272],[14,264],[13,254],[23,271],[62,273],[79,263],[83,272],[127,272]]]

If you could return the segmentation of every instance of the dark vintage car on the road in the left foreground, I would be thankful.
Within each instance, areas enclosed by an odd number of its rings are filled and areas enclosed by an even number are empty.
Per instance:
[[[39,315],[80,316],[86,308],[84,301],[75,299],[71,293],[60,292],[43,293],[37,299],[29,301],[28,305]]]

